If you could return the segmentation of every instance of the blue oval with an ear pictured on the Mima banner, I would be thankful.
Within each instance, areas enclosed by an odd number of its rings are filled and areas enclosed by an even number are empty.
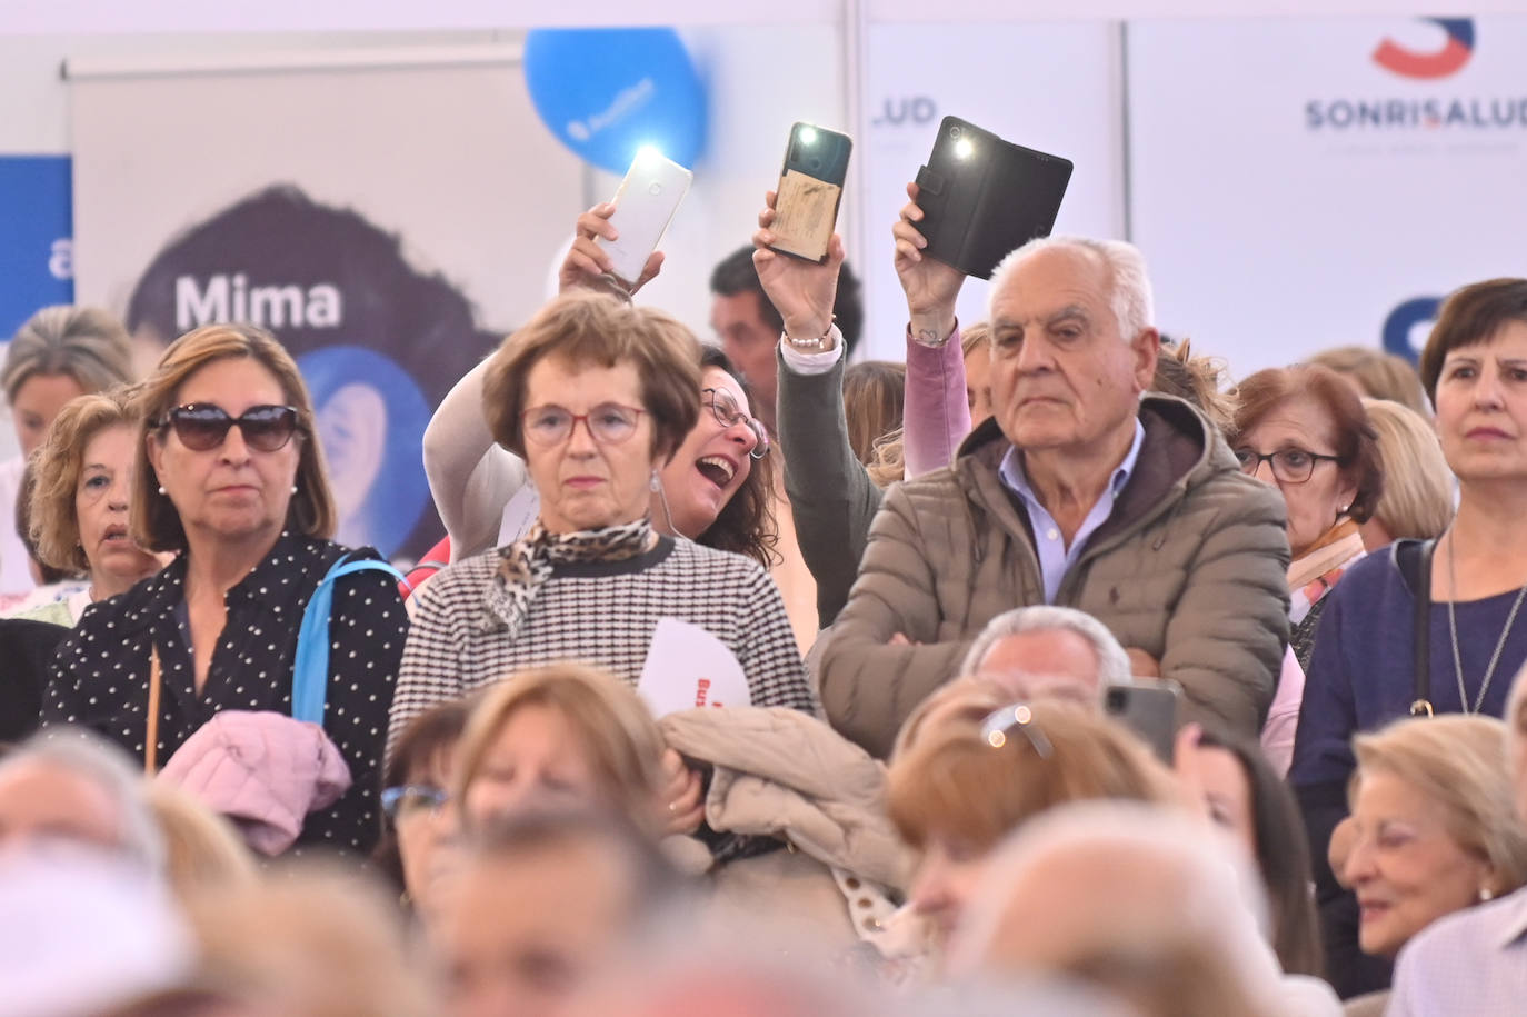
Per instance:
[[[339,504],[336,539],[399,550],[429,504],[418,449],[429,403],[403,368],[376,350],[334,345],[296,359]]]

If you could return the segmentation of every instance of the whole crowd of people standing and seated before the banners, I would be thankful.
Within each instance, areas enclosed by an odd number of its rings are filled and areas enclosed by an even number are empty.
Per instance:
[[[715,345],[580,215],[425,434],[406,579],[275,336],[139,377],[29,321],[0,1012],[1518,1012],[1527,279],[1419,371],[1231,379],[1116,240],[957,321],[907,194],[904,363],[773,194]]]

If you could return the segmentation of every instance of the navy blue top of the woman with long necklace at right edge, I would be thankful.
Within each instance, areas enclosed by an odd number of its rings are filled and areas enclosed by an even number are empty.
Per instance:
[[[1516,596],[1512,589],[1454,605],[1471,709]],[[1356,765],[1351,736],[1406,716],[1416,698],[1416,600],[1394,563],[1394,548],[1370,554],[1347,570],[1325,600],[1293,741],[1289,782],[1295,786],[1345,783]],[[1506,693],[1524,660],[1527,605],[1506,637],[1481,713],[1501,716],[1506,712]],[[1437,713],[1463,710],[1446,603],[1431,608],[1431,702]]]

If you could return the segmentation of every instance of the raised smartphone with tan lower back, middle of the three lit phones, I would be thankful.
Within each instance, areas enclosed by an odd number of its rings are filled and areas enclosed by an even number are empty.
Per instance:
[[[770,226],[774,234],[771,250],[806,261],[828,260],[852,150],[854,140],[847,134],[815,124],[789,128],[774,199],[774,223]]]

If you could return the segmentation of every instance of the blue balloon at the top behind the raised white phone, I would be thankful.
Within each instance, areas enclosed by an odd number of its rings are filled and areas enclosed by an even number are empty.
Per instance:
[[[625,173],[652,145],[683,166],[705,147],[705,90],[673,29],[533,29],[525,84],[580,159]]]

